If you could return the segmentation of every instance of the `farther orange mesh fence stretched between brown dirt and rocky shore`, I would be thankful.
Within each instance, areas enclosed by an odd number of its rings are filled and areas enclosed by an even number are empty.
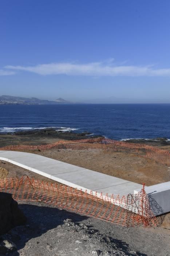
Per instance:
[[[0,150],[51,150],[51,149],[104,149],[113,151],[133,150],[141,151],[143,157],[151,158],[164,165],[170,166],[170,152],[145,144],[129,143],[107,138],[83,139],[83,140],[59,140],[58,142],[46,145],[14,145],[1,147]]]

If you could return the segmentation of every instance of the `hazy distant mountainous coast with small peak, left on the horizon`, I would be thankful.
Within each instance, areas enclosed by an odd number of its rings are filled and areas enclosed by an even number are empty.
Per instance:
[[[48,101],[47,99],[37,99],[37,98],[24,98],[15,97],[9,95],[0,96],[0,105],[52,105],[52,104],[67,104],[73,103],[66,101],[65,99],[59,98],[56,101]]]

